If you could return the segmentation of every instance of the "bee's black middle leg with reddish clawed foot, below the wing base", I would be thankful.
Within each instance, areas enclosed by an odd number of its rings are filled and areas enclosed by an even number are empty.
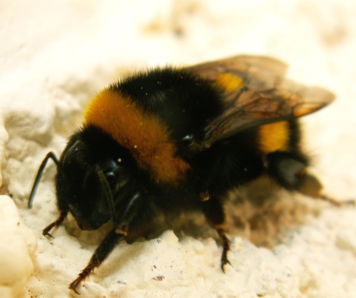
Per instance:
[[[201,209],[205,215],[206,220],[218,232],[221,242],[223,243],[223,253],[221,254],[221,270],[225,273],[224,267],[231,263],[227,259],[227,252],[230,250],[230,240],[226,236],[225,231],[225,212],[221,202],[216,197],[211,197],[209,200],[200,203]]]

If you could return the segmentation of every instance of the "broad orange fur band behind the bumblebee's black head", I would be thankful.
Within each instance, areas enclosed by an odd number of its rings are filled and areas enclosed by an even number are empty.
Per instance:
[[[176,146],[164,124],[127,96],[108,89],[89,103],[84,125],[92,124],[129,149],[138,167],[148,170],[154,181],[177,184],[190,168],[176,156]]]

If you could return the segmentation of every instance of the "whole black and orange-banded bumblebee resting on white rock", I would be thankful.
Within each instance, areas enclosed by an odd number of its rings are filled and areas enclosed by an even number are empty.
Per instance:
[[[140,234],[158,214],[203,212],[223,244],[224,271],[226,194],[263,173],[288,190],[323,198],[321,183],[307,172],[298,118],[334,95],[284,78],[286,69],[276,59],[239,55],[137,72],[94,97],[59,160],[51,151],[42,161],[28,202],[31,208],[52,159],[59,216],[43,235],[51,236],[68,213],[83,230],[112,220],[70,289],[78,293],[120,240]]]

